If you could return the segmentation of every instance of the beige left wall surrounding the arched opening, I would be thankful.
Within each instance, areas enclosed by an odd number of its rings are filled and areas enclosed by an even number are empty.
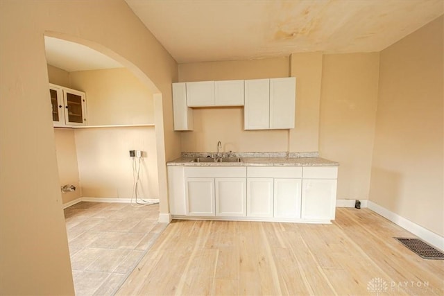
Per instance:
[[[159,162],[180,154],[171,105],[176,62],[124,1],[0,1],[1,295],[74,294],[47,116],[44,33],[109,55],[162,93],[154,96],[162,110],[155,119]],[[167,213],[166,168],[159,171],[160,211]]]

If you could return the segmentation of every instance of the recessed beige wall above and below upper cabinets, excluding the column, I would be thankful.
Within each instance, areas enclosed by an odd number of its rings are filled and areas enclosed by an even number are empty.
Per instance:
[[[180,64],[179,81],[289,77],[288,58]],[[287,151],[288,130],[244,130],[244,108],[193,110],[194,130],[182,132],[182,151]],[[264,140],[265,139],[265,140]]]

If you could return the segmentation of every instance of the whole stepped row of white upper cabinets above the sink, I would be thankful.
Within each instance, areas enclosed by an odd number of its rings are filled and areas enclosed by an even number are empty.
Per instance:
[[[189,107],[245,106],[245,130],[294,128],[296,78],[173,83],[174,130],[193,130]]]

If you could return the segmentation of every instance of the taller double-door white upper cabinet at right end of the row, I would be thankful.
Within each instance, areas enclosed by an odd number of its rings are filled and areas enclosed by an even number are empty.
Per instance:
[[[245,130],[294,128],[296,78],[245,80]]]

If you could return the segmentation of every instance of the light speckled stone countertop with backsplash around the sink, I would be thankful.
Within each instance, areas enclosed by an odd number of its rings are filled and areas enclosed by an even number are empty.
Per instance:
[[[167,166],[339,166],[338,162],[321,157],[276,157],[275,153],[270,155],[273,157],[267,157],[264,153],[260,157],[250,157],[250,154],[243,157],[239,153],[233,156],[240,157],[241,162],[193,162],[196,157],[206,157],[205,153],[182,153],[182,157],[167,162]]]

